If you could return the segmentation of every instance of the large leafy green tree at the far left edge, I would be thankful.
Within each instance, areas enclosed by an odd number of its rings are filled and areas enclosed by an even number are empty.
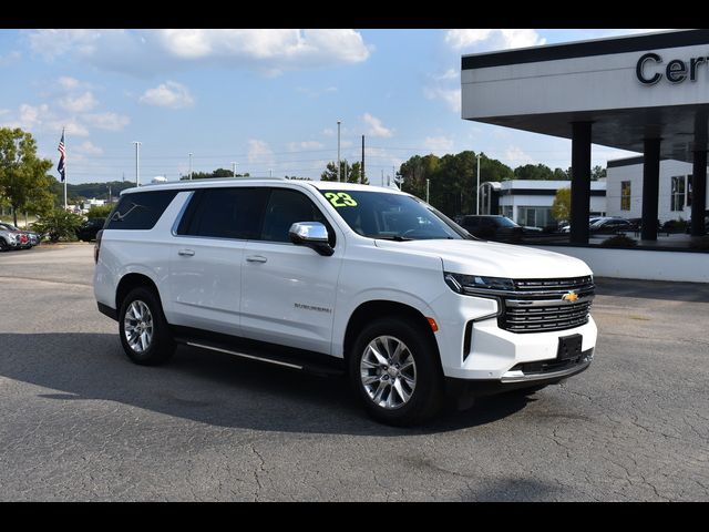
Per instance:
[[[18,212],[45,214],[54,205],[47,172],[48,158],[38,158],[31,133],[19,127],[0,127],[0,194],[12,207],[13,223]]]

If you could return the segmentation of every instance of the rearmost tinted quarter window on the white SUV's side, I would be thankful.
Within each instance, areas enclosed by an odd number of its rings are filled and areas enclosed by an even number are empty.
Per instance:
[[[177,191],[125,194],[115,206],[106,229],[152,229],[177,195]]]

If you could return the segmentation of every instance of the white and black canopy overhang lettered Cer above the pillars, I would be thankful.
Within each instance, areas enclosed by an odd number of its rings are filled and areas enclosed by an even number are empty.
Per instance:
[[[690,162],[707,150],[709,30],[670,31],[463,55],[462,117]]]

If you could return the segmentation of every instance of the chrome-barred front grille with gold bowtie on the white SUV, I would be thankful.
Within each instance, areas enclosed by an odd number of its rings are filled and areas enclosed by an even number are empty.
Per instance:
[[[565,330],[588,323],[595,296],[592,277],[515,280],[503,298],[499,325],[513,332]]]

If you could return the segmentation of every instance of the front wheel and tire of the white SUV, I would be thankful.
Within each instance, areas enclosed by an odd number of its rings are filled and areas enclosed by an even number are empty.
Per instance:
[[[433,339],[412,320],[384,318],[364,327],[349,354],[350,381],[368,413],[398,427],[420,424],[443,405]]]

